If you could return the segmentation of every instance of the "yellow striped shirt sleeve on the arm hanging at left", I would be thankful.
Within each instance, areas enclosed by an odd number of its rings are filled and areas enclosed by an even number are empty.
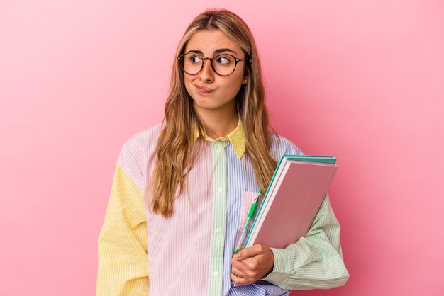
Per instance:
[[[143,192],[117,165],[99,235],[97,296],[148,295],[147,240]]]

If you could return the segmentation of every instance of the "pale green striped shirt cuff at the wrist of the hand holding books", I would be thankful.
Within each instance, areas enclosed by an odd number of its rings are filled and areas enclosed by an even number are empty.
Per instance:
[[[292,268],[292,251],[287,249],[270,248],[274,255],[273,271],[262,280],[267,282],[280,284],[284,283],[293,273]]]

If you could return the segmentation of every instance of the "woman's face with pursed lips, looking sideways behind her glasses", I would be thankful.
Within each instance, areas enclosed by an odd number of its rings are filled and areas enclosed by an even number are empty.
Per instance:
[[[218,30],[199,30],[188,41],[185,53],[193,52],[201,57],[214,57],[223,53],[238,59],[245,57],[243,50]],[[248,61],[245,61],[248,62]],[[232,115],[236,112],[235,97],[245,79],[245,62],[238,62],[229,76],[219,76],[205,59],[198,74],[184,74],[185,88],[194,101],[198,115]]]

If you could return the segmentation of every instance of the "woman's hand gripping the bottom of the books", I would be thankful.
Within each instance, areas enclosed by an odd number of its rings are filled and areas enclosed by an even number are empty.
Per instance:
[[[248,285],[270,273],[274,266],[272,250],[265,244],[255,244],[240,250],[231,258],[231,280]]]

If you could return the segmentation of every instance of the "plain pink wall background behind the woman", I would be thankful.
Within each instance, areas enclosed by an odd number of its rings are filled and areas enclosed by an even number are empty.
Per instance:
[[[438,0],[2,0],[0,294],[95,294],[121,145],[162,119],[179,38],[221,6],[255,34],[276,130],[338,157],[350,280],[292,295],[443,295]]]

